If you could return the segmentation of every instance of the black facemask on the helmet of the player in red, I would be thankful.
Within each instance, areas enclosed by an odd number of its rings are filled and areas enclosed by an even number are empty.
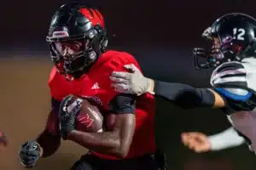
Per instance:
[[[102,38],[96,29],[91,29],[80,37],[48,40],[51,59],[57,70],[68,80],[81,77],[105,50],[107,44],[102,44]]]

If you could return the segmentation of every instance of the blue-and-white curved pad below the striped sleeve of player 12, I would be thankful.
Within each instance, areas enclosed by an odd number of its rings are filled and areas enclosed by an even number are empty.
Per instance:
[[[241,88],[215,88],[215,90],[225,98],[235,101],[247,101],[253,95],[248,90]]]

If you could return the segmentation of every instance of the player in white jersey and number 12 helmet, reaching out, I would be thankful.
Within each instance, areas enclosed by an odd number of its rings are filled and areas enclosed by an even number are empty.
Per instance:
[[[137,95],[148,92],[185,109],[208,106],[223,110],[234,127],[209,138],[202,133],[183,133],[183,143],[193,150],[221,150],[245,141],[251,144],[253,141],[241,133],[242,129],[239,132],[241,126],[236,128],[231,116],[236,111],[253,111],[256,106],[255,35],[256,20],[240,13],[224,14],[203,32],[202,36],[212,41],[212,48],[194,48],[195,66],[214,68],[212,88],[153,80],[143,77],[135,65],[125,65],[130,72],[114,71],[110,79],[118,92]],[[247,123],[244,125],[252,130]]]

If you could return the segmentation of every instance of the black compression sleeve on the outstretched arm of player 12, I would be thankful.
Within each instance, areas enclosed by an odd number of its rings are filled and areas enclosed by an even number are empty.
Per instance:
[[[193,88],[188,84],[152,80],[150,90],[183,109],[214,105],[214,95],[207,88]]]

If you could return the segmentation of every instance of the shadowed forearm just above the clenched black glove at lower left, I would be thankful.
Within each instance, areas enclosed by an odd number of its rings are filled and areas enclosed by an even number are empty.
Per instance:
[[[46,130],[36,139],[40,145],[42,157],[51,156],[59,149],[61,145],[61,137],[48,133]]]

